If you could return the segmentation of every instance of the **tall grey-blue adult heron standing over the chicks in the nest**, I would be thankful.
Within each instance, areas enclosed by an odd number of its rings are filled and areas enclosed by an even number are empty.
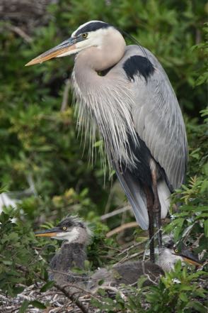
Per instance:
[[[161,247],[161,218],[187,166],[183,116],[168,76],[149,50],[126,45],[120,31],[103,21],[84,23],[27,65],[74,53],[79,124],[92,138],[98,126],[138,224],[153,239],[155,219]],[[154,240],[150,251],[154,261]]]

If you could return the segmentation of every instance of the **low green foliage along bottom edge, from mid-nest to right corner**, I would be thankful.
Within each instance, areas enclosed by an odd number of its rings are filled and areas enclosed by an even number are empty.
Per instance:
[[[100,312],[160,312],[160,313],[192,313],[207,312],[206,291],[197,283],[204,272],[190,273],[187,268],[181,267],[180,261],[176,263],[175,270],[161,278],[158,285],[142,287],[146,278],[140,278],[137,287],[125,286],[129,295],[125,297],[117,293],[115,301],[106,297],[100,290],[101,299],[92,299],[94,306]]]

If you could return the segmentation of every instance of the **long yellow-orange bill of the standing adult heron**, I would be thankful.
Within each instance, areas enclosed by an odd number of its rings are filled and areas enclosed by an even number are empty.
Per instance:
[[[67,54],[76,53],[76,41],[77,41],[76,38],[69,38],[68,40],[64,40],[63,43],[60,43],[56,47],[47,50],[45,53],[42,53],[41,55],[38,55],[38,57],[35,57],[35,59],[25,64],[25,66],[42,63],[47,60],[53,59],[54,57],[62,57]]]

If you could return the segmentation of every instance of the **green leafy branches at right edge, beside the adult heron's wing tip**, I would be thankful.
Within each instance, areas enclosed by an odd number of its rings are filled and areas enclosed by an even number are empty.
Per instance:
[[[190,148],[189,175],[193,172],[195,175],[173,195],[173,202],[180,202],[180,206],[177,213],[172,212],[173,220],[166,226],[166,231],[173,232],[175,241],[197,242],[197,253],[207,250],[207,113],[202,111],[204,124],[192,124],[195,141]],[[203,260],[206,257],[205,253]]]

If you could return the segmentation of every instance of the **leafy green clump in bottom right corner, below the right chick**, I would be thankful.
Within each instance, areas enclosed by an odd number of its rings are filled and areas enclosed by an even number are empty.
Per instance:
[[[175,270],[166,273],[157,286],[149,287],[146,300],[151,309],[147,312],[206,312],[206,307],[199,301],[204,300],[205,304],[206,293],[197,283],[202,275],[203,272],[189,273],[187,268],[182,269],[179,261]]]

